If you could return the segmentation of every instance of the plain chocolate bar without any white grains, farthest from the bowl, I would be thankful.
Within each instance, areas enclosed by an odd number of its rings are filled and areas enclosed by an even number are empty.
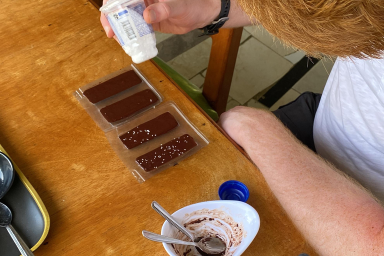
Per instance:
[[[86,89],[83,94],[92,103],[97,103],[106,99],[114,94],[126,90],[141,82],[140,77],[133,71],[129,70],[125,73],[119,74],[110,78],[107,81],[101,82],[96,86]]]

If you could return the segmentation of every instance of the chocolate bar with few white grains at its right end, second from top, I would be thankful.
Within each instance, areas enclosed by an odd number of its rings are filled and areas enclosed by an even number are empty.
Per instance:
[[[158,98],[152,90],[145,89],[101,108],[100,112],[108,122],[114,122],[132,115],[138,110],[157,102],[157,100]]]

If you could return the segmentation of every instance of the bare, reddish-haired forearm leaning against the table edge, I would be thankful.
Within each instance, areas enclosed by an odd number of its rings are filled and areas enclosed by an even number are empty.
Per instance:
[[[232,114],[241,115],[232,127],[240,133],[235,140],[320,255],[383,253],[384,210],[369,193],[304,147],[270,112]]]

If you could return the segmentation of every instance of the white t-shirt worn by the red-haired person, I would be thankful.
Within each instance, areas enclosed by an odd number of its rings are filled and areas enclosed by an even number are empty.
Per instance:
[[[384,59],[335,61],[313,138],[321,156],[384,201]]]

